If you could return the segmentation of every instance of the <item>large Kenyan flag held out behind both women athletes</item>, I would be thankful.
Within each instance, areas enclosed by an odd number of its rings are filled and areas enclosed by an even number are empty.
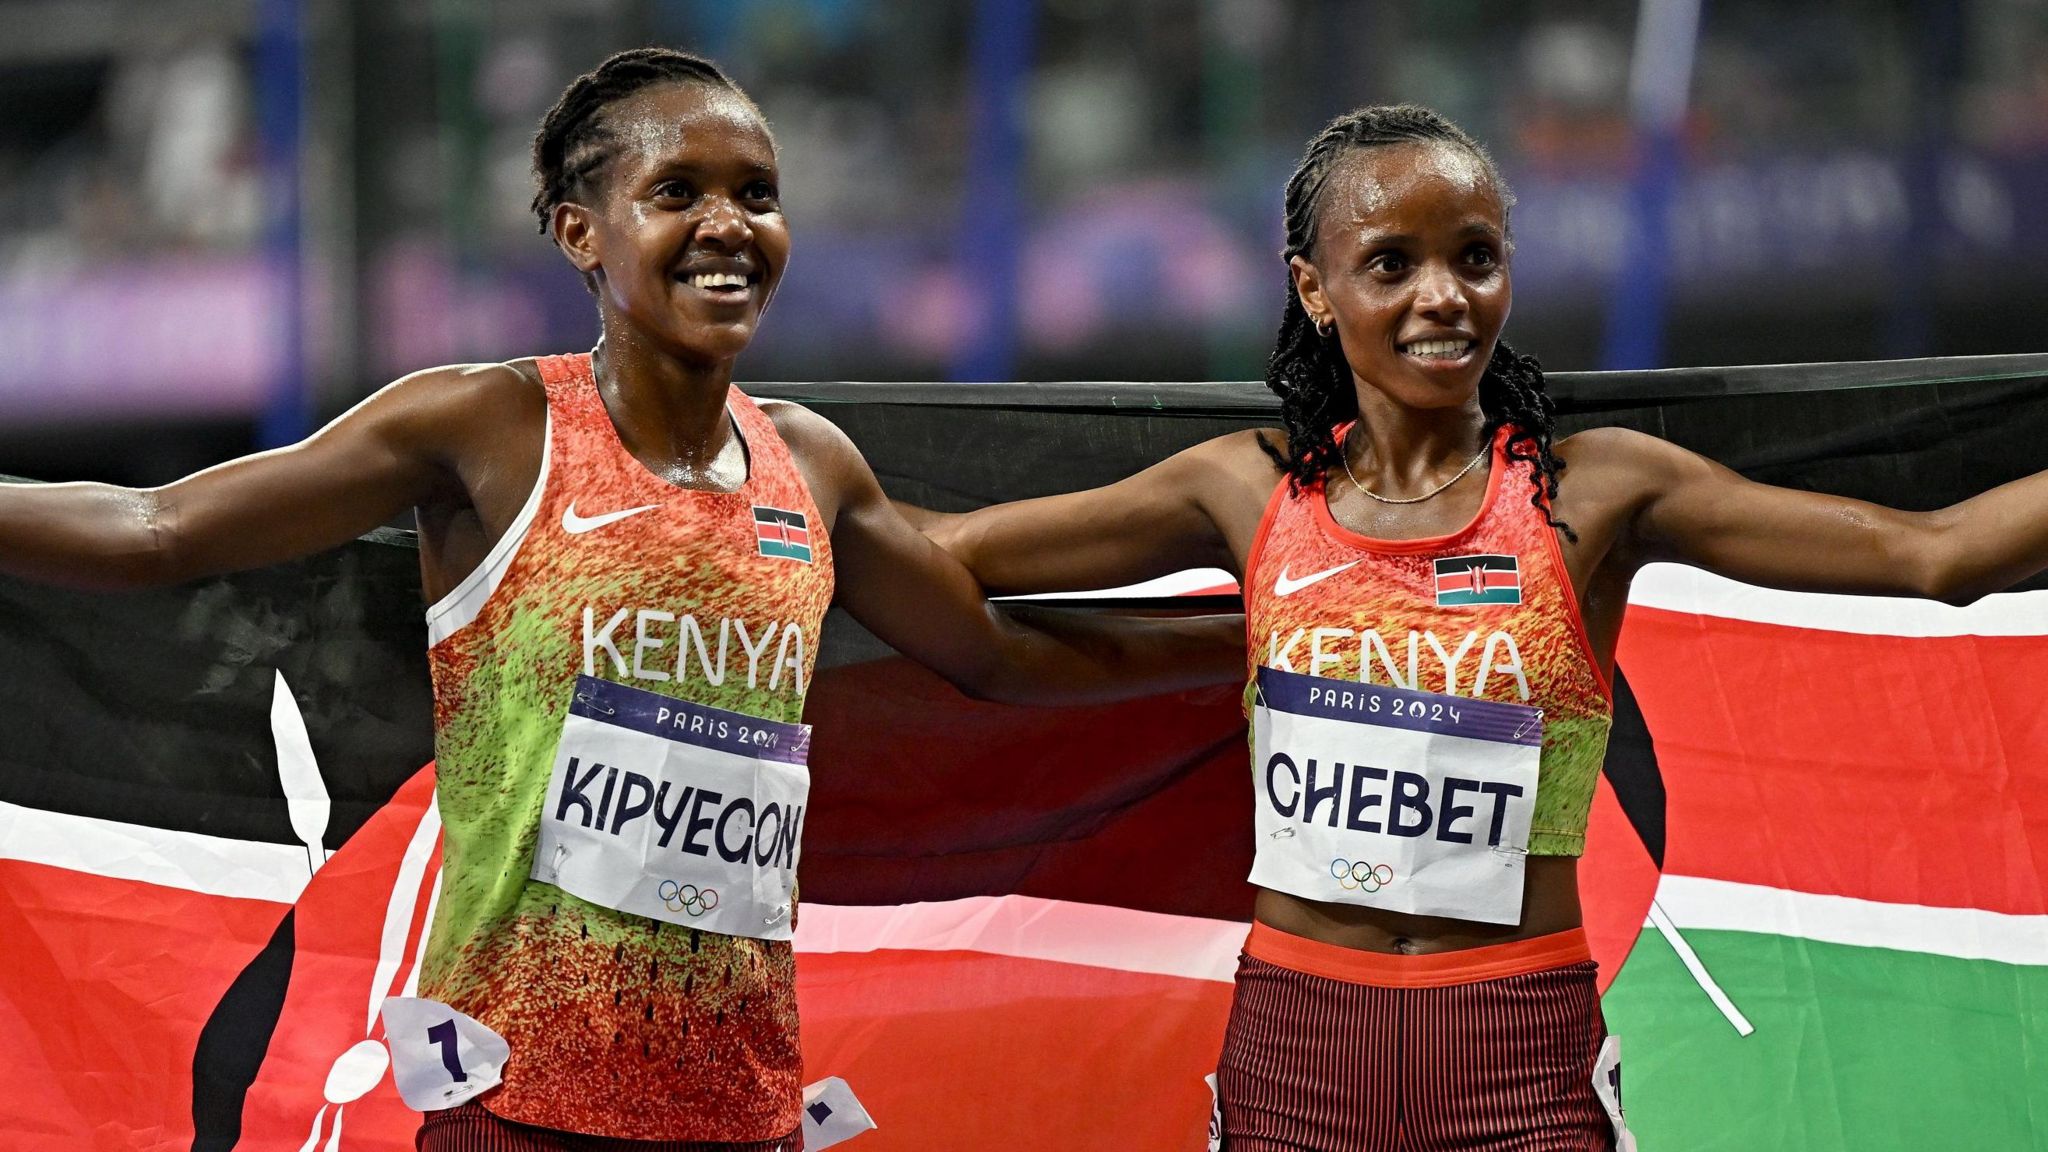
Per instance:
[[[2042,463],[2048,359],[1999,365],[2023,373],[1552,385],[1759,480],[1942,506]],[[1257,383],[1149,406],[844,387],[836,418],[932,506],[1106,484],[1272,420]],[[807,529],[756,525],[762,547]],[[418,558],[393,543],[145,594],[0,580],[0,1148],[412,1148],[377,1002],[418,972],[438,822]],[[1579,867],[1642,1148],[2042,1146],[2044,658],[2048,592],[1948,609],[1642,574]],[[809,703],[834,771],[805,830],[805,1080],[844,1078],[881,1123],[854,1152],[1202,1148],[1251,910],[1239,693],[967,701],[840,619]]]

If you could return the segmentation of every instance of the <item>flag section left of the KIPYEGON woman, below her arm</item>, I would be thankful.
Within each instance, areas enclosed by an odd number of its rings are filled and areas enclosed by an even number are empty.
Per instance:
[[[438,871],[418,553],[0,582],[0,1148],[410,1148]]]

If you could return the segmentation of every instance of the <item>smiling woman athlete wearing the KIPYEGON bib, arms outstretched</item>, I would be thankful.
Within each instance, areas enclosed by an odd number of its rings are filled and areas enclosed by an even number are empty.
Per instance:
[[[838,428],[731,387],[788,232],[768,125],[709,61],[578,78],[535,176],[594,353],[422,371],[158,490],[0,488],[0,570],[168,584],[416,508],[444,875],[428,1002],[385,1023],[436,1107],[420,1148],[797,1148],[799,719],[827,603],[1028,701],[1229,681],[1237,621],[1006,619]]]

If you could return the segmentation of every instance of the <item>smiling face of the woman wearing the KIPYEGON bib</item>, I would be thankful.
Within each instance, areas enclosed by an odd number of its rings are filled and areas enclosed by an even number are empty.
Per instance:
[[[606,334],[627,324],[686,361],[731,361],[788,262],[774,139],[745,96],[678,82],[602,113],[610,156],[555,209]]]

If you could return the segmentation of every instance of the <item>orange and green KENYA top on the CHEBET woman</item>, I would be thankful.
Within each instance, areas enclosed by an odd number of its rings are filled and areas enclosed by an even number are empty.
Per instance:
[[[1538,707],[1530,853],[1575,857],[1614,701],[1556,531],[1530,504],[1534,465],[1511,461],[1505,445],[1503,428],[1479,515],[1432,539],[1358,535],[1329,515],[1323,484],[1280,482],[1245,560],[1245,711],[1262,664]]]

